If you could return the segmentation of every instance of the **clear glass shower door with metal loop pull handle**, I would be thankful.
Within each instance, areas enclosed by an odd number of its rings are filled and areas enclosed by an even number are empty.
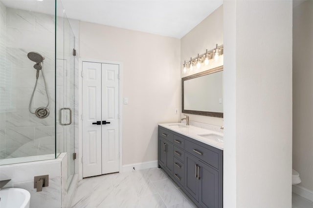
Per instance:
[[[67,152],[67,182],[68,186],[74,174],[74,141],[75,112],[77,104],[75,90],[78,90],[78,70],[75,70],[75,36],[70,23],[63,13],[63,6],[57,1],[57,33],[56,33],[56,152]],[[58,47],[60,45],[61,47]],[[77,110],[76,110],[77,109]]]

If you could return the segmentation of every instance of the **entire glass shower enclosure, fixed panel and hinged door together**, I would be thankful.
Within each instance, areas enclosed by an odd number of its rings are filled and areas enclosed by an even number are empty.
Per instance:
[[[0,165],[67,152],[68,178],[74,174],[74,52],[60,0],[0,0]]]

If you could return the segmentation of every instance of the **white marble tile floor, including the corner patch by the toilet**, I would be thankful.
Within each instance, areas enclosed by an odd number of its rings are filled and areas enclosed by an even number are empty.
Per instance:
[[[71,208],[197,208],[163,170],[157,168],[85,178]],[[313,202],[292,193],[292,208]]]

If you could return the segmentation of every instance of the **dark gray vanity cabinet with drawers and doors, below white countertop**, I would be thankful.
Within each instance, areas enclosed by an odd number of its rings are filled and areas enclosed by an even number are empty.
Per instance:
[[[158,154],[158,166],[198,207],[223,208],[223,150],[159,126]]]

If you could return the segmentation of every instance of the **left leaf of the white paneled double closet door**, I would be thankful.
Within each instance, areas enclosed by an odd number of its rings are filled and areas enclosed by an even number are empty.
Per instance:
[[[83,62],[83,177],[101,175],[101,64]]]

